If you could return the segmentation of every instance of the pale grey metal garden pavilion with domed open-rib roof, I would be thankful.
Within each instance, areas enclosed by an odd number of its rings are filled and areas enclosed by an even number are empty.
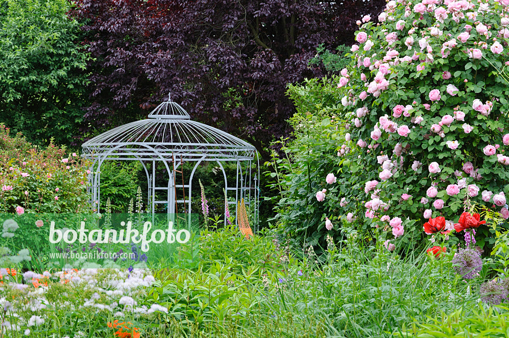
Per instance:
[[[106,131],[81,147],[82,156],[93,161],[89,183],[97,212],[101,196],[101,164],[105,160],[139,161],[142,164],[148,182],[147,208],[152,215],[156,204],[167,204],[168,215],[190,214],[194,173],[202,162],[208,161],[217,162],[221,168],[227,196],[235,196],[235,202],[229,201],[228,204],[235,205],[236,214],[237,202],[243,198],[246,205],[253,204],[254,214],[258,215],[260,173],[256,148],[224,131],[191,121],[189,114],[169,96],[168,101],[159,104],[148,119]],[[228,182],[222,165],[231,161],[237,164],[235,182]],[[187,182],[184,181],[184,162],[194,162]],[[255,168],[253,164],[256,164]],[[164,186],[156,185],[156,167],[159,165],[163,165],[168,174]],[[160,191],[163,191],[164,199],[156,198],[156,192]],[[183,192],[183,198],[178,199],[177,191]]]

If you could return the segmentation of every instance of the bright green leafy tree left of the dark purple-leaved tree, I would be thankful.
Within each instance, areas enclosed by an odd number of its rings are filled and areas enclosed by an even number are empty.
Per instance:
[[[69,145],[89,55],[67,0],[0,0],[0,121],[31,142]]]

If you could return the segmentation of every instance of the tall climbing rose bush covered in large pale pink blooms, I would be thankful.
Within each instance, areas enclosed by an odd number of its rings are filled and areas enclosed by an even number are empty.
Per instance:
[[[509,216],[508,14],[509,0],[390,1],[362,24],[337,81],[342,148],[361,150],[339,153],[341,170],[368,176],[345,216],[385,222],[393,237],[422,234],[425,218],[457,222],[474,204]]]

